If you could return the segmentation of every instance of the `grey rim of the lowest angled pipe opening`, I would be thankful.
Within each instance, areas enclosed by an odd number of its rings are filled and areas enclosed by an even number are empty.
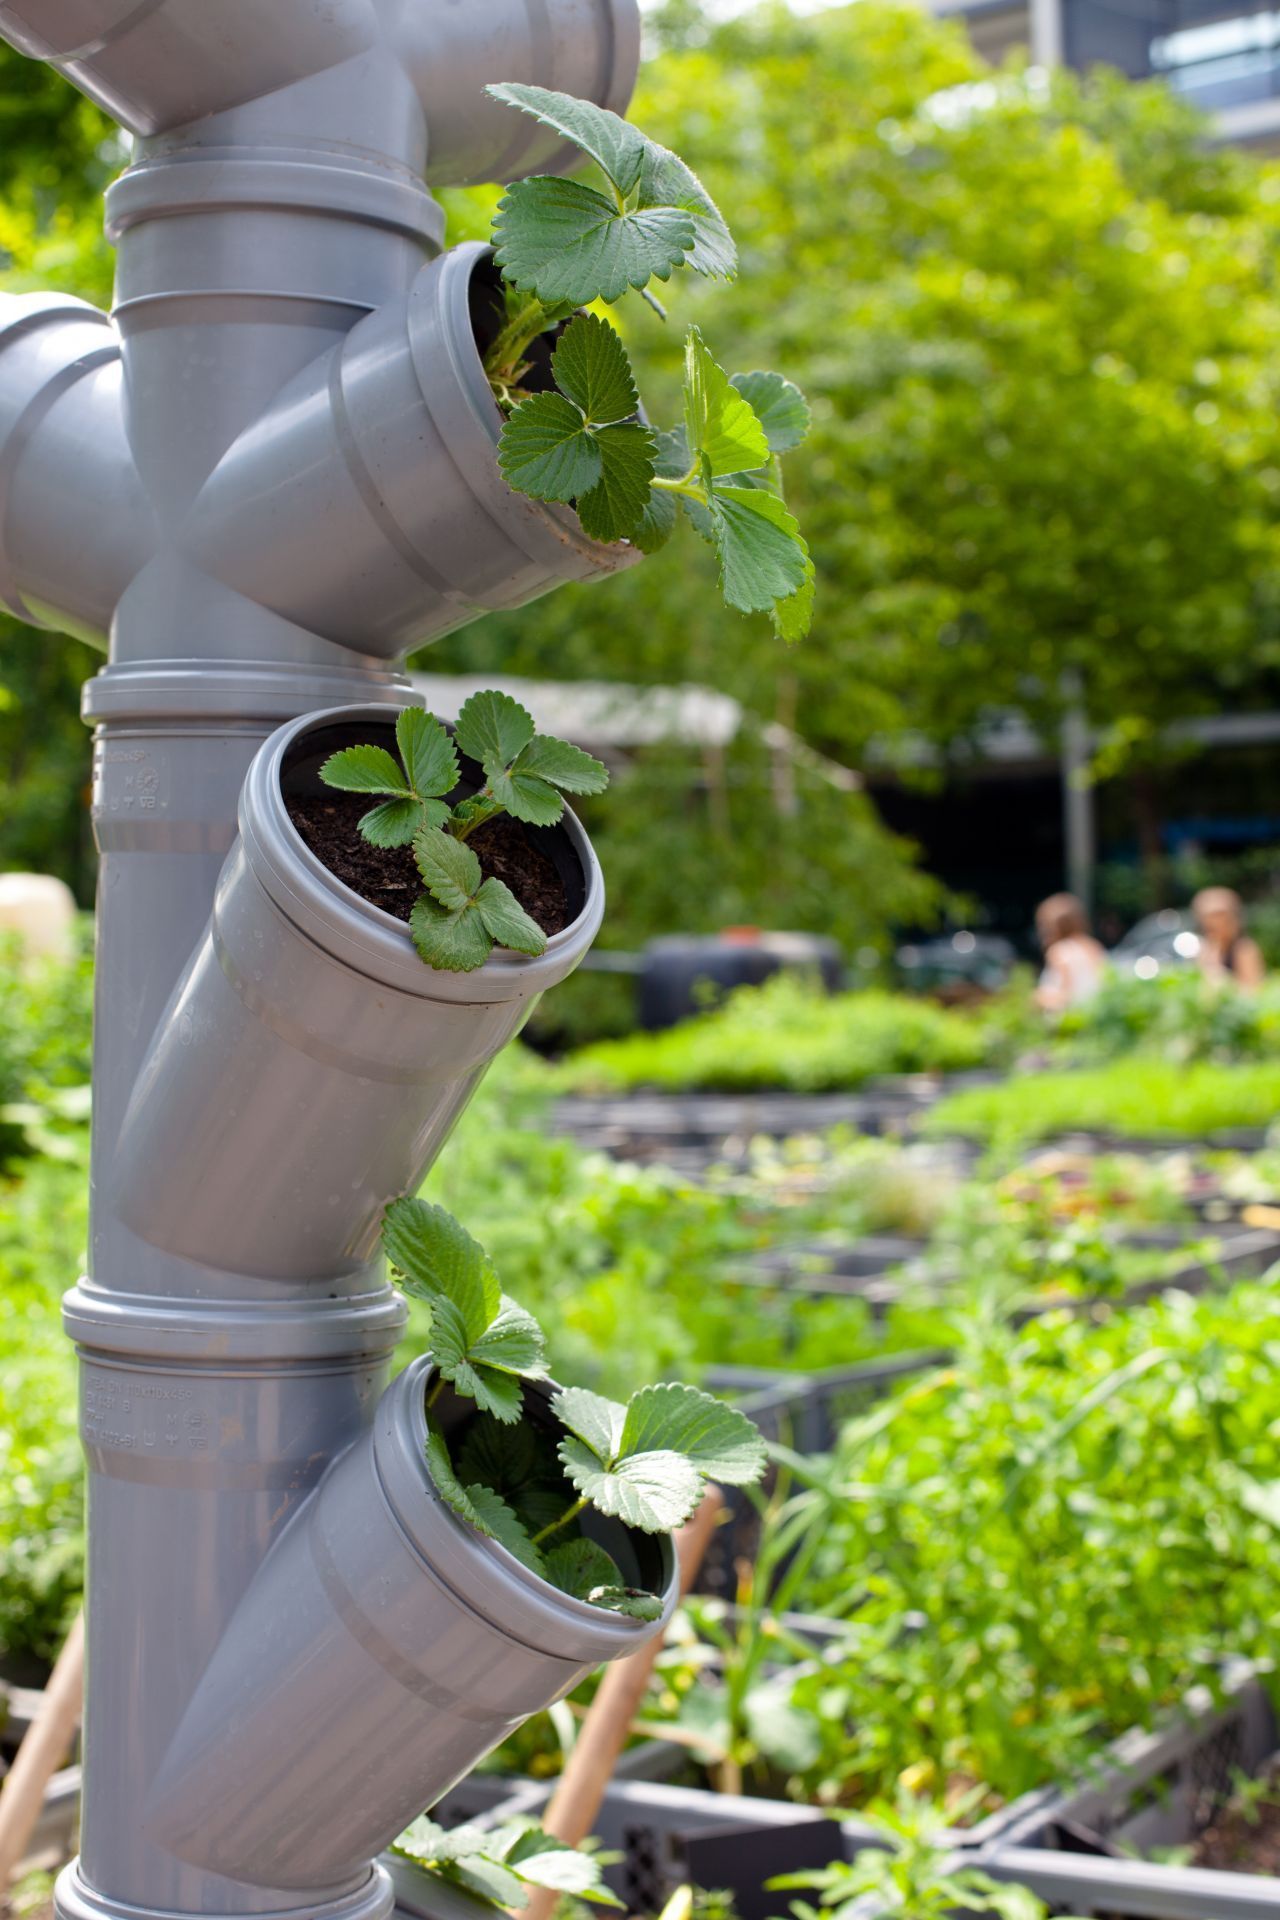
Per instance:
[[[662,1615],[631,1620],[562,1594],[445,1505],[426,1467],[426,1388],[434,1371],[430,1354],[411,1361],[378,1402],[372,1428],[382,1494],[434,1578],[503,1634],[557,1659],[616,1661],[662,1634],[679,1601],[670,1534],[652,1536],[662,1555]]]

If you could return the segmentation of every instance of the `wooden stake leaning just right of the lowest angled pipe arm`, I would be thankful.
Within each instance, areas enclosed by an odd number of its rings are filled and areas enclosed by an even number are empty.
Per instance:
[[[699,1567],[706,1557],[722,1503],[723,1496],[720,1488],[708,1486],[699,1511],[676,1534],[681,1599],[693,1586]],[[660,1647],[662,1634],[654,1634],[643,1647],[629,1653],[626,1661],[616,1661],[604,1672],[597,1695],[587,1709],[574,1751],[560,1774],[560,1784],[543,1814],[543,1828],[570,1847],[578,1847],[595,1826],[604,1789],[626,1745],[631,1720],[645,1699],[645,1688],[649,1686]],[[551,1887],[533,1887],[530,1905],[520,1908],[520,1920],[551,1920],[558,1899],[560,1895]]]

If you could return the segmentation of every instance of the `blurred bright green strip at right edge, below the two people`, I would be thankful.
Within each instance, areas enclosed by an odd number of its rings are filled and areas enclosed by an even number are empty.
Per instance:
[[[1268,1127],[1280,1117],[1280,1062],[1176,1066],[1134,1056],[1107,1068],[1021,1073],[998,1087],[971,1087],[925,1117],[931,1135],[965,1135],[994,1146],[1055,1133],[1128,1139],[1205,1139],[1230,1127]]]

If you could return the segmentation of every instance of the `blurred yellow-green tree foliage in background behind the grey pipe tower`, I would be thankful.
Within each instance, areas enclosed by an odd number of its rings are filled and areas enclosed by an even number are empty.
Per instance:
[[[814,634],[787,651],[725,612],[685,534],[420,664],[737,695],[750,724],[723,762],[637,758],[593,806],[608,939],[758,920],[875,943],[927,920],[936,887],[865,795],[779,772],[770,722],[856,768],[904,733],[960,755],[1009,707],[1052,732],[1073,687],[1121,766],[1157,756],[1171,718],[1270,695],[1280,177],[1209,146],[1157,86],[996,73],[915,6],[798,19],[766,0],[708,27],[672,0],[656,40],[633,113],[704,177],[743,271],[727,292],[674,286],[666,326],[616,311],[658,419],[687,321],[729,367],[806,388],[791,493]],[[0,100],[6,284],[100,298],[106,123],[13,56]],[[449,198],[455,238],[484,230],[491,196]],[[0,862],[71,872],[67,716],[90,657],[6,626],[0,662]]]

